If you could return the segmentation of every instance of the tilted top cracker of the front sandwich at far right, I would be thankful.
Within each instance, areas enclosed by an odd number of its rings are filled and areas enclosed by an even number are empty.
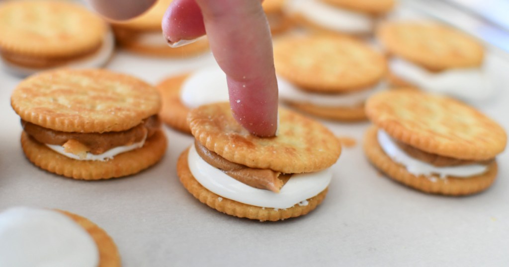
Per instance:
[[[394,139],[440,156],[489,160],[507,142],[504,129],[474,108],[415,90],[375,94],[366,102],[366,114]]]

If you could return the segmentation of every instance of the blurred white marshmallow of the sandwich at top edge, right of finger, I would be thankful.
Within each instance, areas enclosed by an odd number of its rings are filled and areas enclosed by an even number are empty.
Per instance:
[[[300,14],[309,21],[338,32],[364,34],[372,32],[372,17],[331,6],[320,0],[286,1],[285,11]]]

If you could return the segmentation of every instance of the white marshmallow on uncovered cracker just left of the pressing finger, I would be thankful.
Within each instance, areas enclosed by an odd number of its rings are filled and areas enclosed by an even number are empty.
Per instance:
[[[182,84],[180,100],[188,108],[228,101],[226,75],[217,65],[191,73]]]

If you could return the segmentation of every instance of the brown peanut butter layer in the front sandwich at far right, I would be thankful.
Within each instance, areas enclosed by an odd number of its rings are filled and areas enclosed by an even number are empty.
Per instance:
[[[474,161],[474,160],[462,160],[455,159],[445,156],[440,156],[437,154],[431,154],[428,152],[424,152],[422,150],[416,149],[415,147],[402,143],[400,141],[394,140],[394,142],[406,152],[409,156],[414,159],[418,159],[420,161],[429,163],[436,167],[449,167],[449,166],[462,166],[462,165],[471,165],[471,164],[484,164],[488,165],[493,159],[485,160],[485,161]]]

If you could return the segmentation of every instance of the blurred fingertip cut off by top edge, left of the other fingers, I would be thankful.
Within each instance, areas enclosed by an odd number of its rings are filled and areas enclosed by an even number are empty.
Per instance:
[[[87,0],[108,20],[128,20],[149,10],[157,0]]]

